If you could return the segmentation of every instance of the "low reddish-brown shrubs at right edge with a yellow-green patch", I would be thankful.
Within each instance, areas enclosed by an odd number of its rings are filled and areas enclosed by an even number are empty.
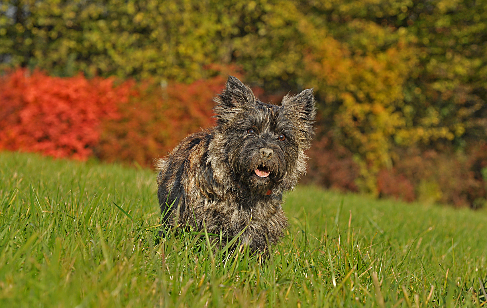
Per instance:
[[[482,207],[486,197],[487,145],[478,142],[465,152],[409,148],[397,151],[394,167],[379,173],[381,195],[412,201]]]

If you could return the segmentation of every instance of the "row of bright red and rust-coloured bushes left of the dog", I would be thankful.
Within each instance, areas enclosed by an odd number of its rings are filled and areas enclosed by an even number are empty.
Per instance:
[[[220,74],[191,84],[115,84],[19,69],[0,82],[0,150],[150,166],[188,134],[214,124],[212,98],[224,84]]]

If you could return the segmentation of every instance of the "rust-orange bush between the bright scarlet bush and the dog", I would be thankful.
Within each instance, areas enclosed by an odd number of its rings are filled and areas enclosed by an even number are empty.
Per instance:
[[[121,116],[103,124],[95,154],[106,161],[150,166],[188,134],[214,125],[212,99],[225,81],[219,75],[191,84],[138,85],[137,94],[119,105]]]

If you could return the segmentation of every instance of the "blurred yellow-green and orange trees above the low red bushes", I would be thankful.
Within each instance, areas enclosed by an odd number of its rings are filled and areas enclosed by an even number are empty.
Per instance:
[[[315,87],[317,142],[378,194],[401,149],[487,139],[486,26],[486,0],[3,0],[0,69],[189,83],[235,63],[267,93]]]

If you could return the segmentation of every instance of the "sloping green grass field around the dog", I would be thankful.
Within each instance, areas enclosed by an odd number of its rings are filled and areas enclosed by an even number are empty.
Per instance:
[[[159,243],[155,190],[149,170],[1,152],[0,307],[487,307],[486,210],[300,187],[262,263],[204,232]]]

